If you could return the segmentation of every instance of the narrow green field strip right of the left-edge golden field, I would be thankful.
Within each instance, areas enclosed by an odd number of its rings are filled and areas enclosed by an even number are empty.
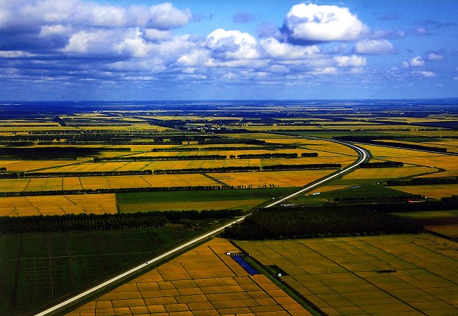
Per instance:
[[[283,196],[295,188],[262,188],[240,190],[213,190],[213,191],[158,191],[133,192],[118,194],[118,203],[160,203],[160,202],[195,202],[195,201],[228,201],[251,198],[266,198]]]

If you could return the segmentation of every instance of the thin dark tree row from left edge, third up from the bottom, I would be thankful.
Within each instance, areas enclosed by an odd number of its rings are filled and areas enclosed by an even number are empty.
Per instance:
[[[0,172],[0,179],[42,178],[42,177],[106,177],[117,175],[152,175],[151,170],[127,171],[75,171],[75,172]]]

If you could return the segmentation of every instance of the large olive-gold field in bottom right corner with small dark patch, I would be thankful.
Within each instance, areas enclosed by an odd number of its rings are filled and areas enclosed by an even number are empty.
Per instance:
[[[431,234],[237,241],[327,315],[456,315],[458,246]]]

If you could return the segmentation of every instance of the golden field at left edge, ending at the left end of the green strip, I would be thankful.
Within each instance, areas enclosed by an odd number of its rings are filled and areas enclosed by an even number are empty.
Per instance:
[[[114,194],[14,196],[0,198],[0,216],[117,213]]]

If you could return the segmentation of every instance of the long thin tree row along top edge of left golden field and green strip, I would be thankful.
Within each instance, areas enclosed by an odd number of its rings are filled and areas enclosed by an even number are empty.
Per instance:
[[[54,196],[64,194],[113,194],[130,192],[163,192],[163,191],[209,191],[237,189],[228,185],[199,185],[195,187],[142,187],[142,188],[106,188],[106,189],[80,189],[80,190],[47,190],[47,191],[5,191],[0,192],[4,196]],[[240,188],[243,189],[243,188]]]

